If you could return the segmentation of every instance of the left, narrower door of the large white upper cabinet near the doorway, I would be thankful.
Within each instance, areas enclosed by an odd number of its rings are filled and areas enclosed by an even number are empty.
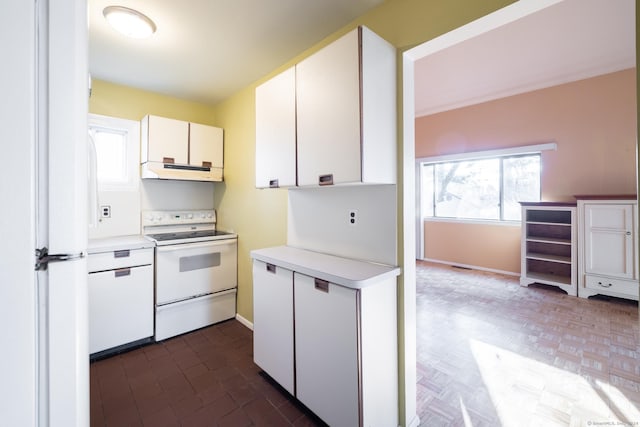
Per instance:
[[[296,185],[295,67],[256,88],[256,187]]]

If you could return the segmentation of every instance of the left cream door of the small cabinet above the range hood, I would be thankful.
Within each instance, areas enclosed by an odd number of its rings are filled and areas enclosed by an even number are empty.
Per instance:
[[[158,116],[142,119],[141,162],[186,164],[189,153],[189,123]]]

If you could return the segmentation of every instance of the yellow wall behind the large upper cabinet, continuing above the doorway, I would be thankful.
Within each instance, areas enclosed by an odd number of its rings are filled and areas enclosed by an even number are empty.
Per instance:
[[[256,86],[357,25],[366,25],[402,51],[509,3],[512,1],[388,0],[216,107],[217,125],[225,129],[226,181],[223,194],[216,187],[216,207],[221,227],[234,229],[240,235],[239,241],[243,240],[238,252],[238,313],[241,316],[253,319],[251,275],[247,269],[250,265],[249,251],[286,242],[286,194],[254,188]],[[400,142],[398,147],[400,150]],[[401,253],[402,236],[399,236],[400,258]]]

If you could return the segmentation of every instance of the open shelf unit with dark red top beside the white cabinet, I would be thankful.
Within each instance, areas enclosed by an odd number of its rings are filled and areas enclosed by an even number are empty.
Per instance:
[[[577,296],[576,204],[521,205],[520,285],[553,285]]]

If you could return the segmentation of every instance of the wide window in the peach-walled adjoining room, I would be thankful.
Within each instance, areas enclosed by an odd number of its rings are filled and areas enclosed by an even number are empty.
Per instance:
[[[535,147],[421,159],[422,217],[520,221],[519,202],[540,201],[540,150],[555,144]]]

